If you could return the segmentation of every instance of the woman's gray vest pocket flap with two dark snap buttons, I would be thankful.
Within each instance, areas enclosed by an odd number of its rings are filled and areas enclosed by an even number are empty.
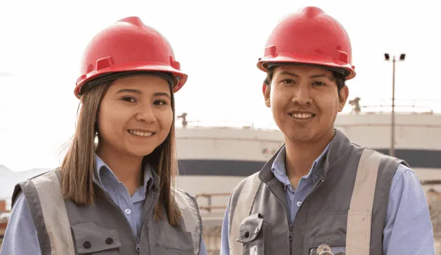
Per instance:
[[[116,230],[101,228],[93,222],[72,225],[78,254],[119,254],[121,241]]]

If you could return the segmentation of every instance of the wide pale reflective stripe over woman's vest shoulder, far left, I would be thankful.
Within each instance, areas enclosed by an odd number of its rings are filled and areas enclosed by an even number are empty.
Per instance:
[[[59,170],[28,179],[20,184],[37,229],[43,255],[74,255],[68,213],[61,194]]]

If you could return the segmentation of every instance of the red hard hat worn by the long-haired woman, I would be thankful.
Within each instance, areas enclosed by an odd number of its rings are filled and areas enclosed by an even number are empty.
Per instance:
[[[76,80],[75,96],[81,87],[104,74],[129,71],[156,71],[171,74],[175,93],[187,81],[167,39],[136,16],[127,17],[96,34],[86,47],[81,76]]]

